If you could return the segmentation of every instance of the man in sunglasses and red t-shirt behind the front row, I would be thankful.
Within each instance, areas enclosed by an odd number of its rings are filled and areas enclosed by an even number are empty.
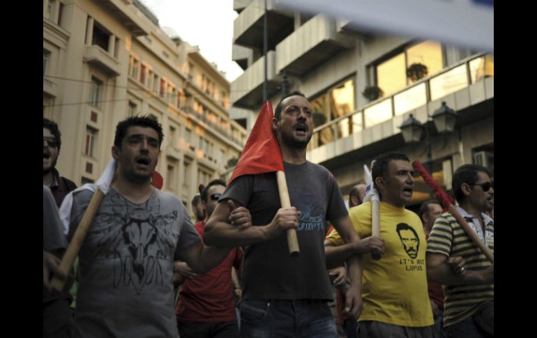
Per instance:
[[[205,221],[211,217],[218,199],[225,190],[223,180],[211,180],[201,194],[202,208],[206,219],[195,224],[202,236]],[[177,326],[181,338],[239,337],[239,326],[233,300],[232,268],[240,270],[243,254],[234,248],[213,270],[183,279],[176,305]],[[176,275],[176,278],[181,278]]]

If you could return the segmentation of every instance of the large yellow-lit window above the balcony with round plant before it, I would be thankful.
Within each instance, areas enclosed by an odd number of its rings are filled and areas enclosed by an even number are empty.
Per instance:
[[[444,68],[442,47],[432,40],[407,47],[399,54],[378,63],[377,86],[381,97],[404,89]]]

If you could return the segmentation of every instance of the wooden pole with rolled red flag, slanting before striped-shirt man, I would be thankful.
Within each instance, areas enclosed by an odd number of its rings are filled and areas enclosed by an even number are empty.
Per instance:
[[[481,242],[481,238],[477,236],[476,231],[471,229],[468,222],[464,220],[464,217],[462,217],[455,206],[453,206],[453,199],[446,194],[444,190],[442,190],[440,185],[434,180],[434,178],[430,176],[419,160],[412,162],[412,167],[414,167],[414,170],[418,171],[421,177],[423,177],[425,183],[427,183],[434,192],[434,197],[436,197],[441,205],[444,206],[444,209],[447,209],[449,213],[455,217],[455,220],[457,220],[457,222],[460,224],[460,227],[468,235],[471,241],[474,242],[479,249],[481,249],[481,252],[487,256],[487,259],[490,261],[490,263],[494,263],[494,254],[492,254],[490,249],[483,242]]]

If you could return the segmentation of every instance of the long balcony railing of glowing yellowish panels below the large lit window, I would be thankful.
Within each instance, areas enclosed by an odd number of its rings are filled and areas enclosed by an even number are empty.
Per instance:
[[[394,116],[400,116],[412,109],[427,105],[430,101],[467,88],[485,77],[494,77],[493,58],[491,54],[471,56],[401,91],[379,98],[362,109],[320,125],[313,130],[313,140],[308,149],[317,148],[363,129],[371,128]]]

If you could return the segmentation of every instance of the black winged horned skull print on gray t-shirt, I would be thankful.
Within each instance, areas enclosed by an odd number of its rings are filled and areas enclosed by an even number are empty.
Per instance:
[[[114,259],[113,286],[133,286],[136,293],[144,285],[162,284],[160,259],[170,261],[179,235],[170,231],[177,210],[160,215],[160,199],[144,205],[129,204],[119,194],[111,196],[112,212],[99,213],[96,245],[103,251],[97,259]]]

